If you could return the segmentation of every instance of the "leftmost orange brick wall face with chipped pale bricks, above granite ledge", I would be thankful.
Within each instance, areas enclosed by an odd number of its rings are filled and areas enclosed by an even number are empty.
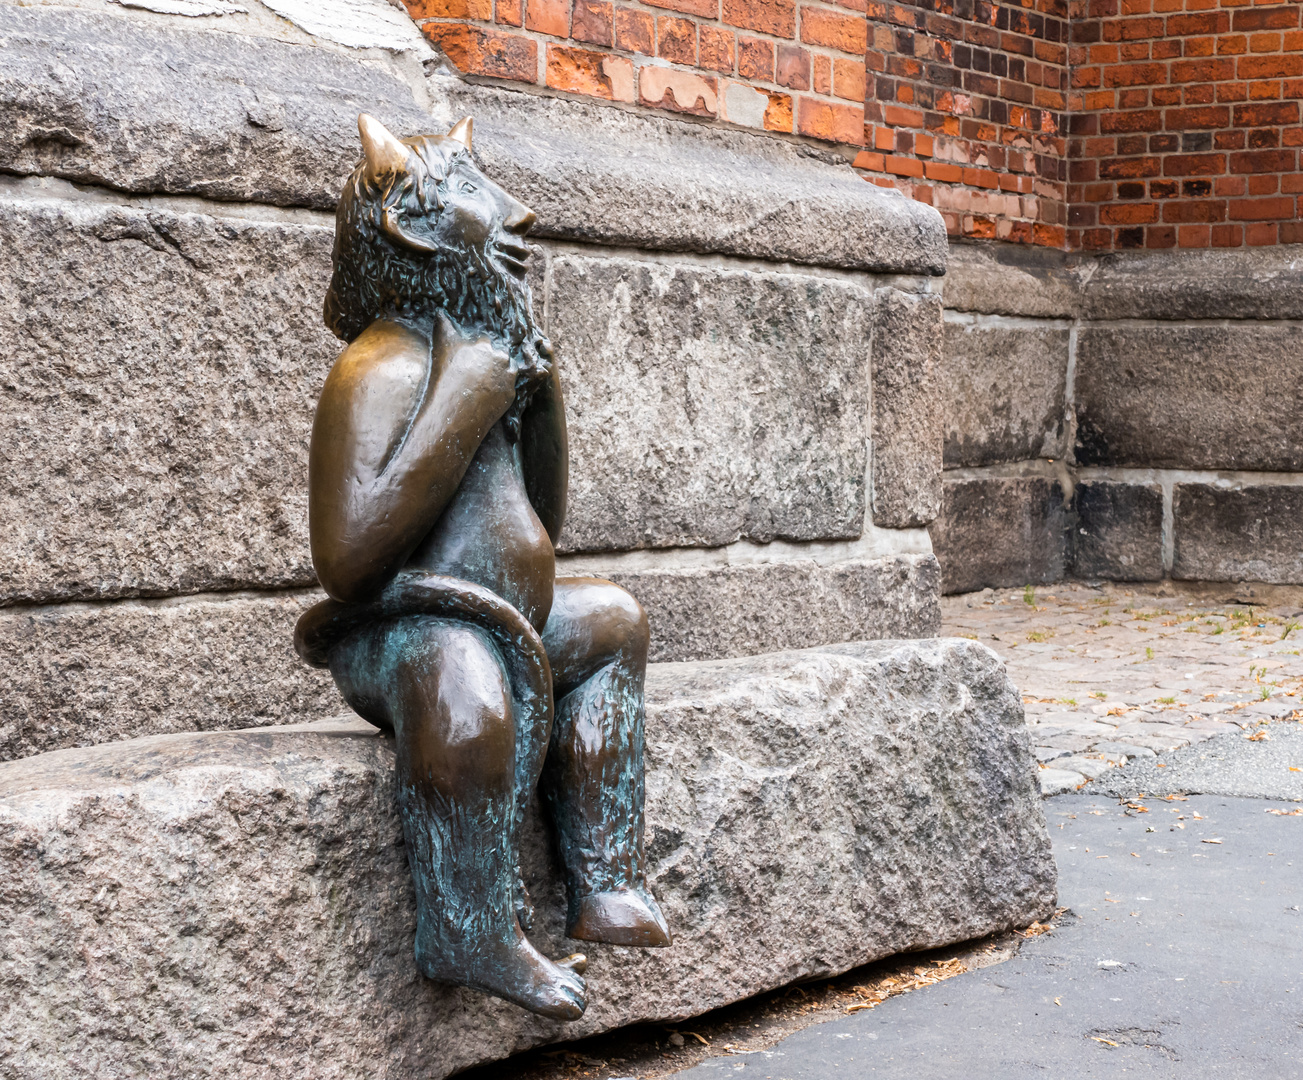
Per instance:
[[[468,74],[859,145],[864,0],[404,0]]]

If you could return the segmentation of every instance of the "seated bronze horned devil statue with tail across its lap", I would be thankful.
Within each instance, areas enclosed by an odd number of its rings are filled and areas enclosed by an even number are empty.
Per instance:
[[[585,960],[525,938],[525,805],[541,787],[572,938],[666,946],[642,861],[648,623],[610,581],[555,576],[566,410],[534,323],[534,215],[470,156],[470,120],[397,139],[361,116],[326,323],[348,348],[313,427],[313,563],[294,644],[391,731],[426,976],[577,1019]]]

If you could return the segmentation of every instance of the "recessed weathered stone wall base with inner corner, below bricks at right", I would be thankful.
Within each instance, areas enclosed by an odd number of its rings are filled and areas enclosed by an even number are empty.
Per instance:
[[[947,593],[1303,581],[1303,268],[1289,249],[956,246],[939,367]]]

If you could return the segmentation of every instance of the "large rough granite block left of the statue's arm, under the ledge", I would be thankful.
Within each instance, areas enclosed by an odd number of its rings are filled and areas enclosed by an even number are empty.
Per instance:
[[[310,585],[331,231],[0,198],[0,603]]]

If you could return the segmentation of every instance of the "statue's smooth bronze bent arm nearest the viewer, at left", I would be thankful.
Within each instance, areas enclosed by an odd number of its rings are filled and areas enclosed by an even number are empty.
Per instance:
[[[371,599],[456,494],[515,396],[487,340],[431,350],[405,328],[369,330],[335,363],[313,425],[313,564],[339,601]]]

